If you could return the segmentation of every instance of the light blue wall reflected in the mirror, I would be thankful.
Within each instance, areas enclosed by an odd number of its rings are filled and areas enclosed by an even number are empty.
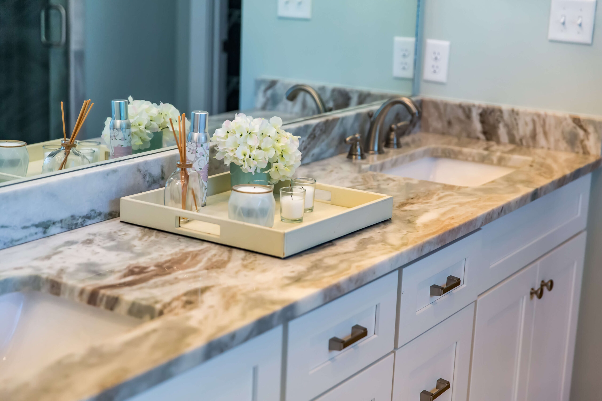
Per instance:
[[[417,0],[313,0],[311,20],[276,16],[277,0],[243,0],[241,108],[253,106],[255,78],[411,93],[393,78],[393,37],[414,37]]]

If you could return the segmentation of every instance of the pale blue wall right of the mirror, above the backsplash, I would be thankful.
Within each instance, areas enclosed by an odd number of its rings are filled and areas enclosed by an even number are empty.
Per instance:
[[[421,1],[424,38],[452,45],[447,84],[420,94],[602,114],[602,29],[591,46],[548,41],[551,0]]]

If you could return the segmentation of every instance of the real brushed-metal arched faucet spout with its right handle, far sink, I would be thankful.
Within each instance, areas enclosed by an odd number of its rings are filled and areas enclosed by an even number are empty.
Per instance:
[[[383,142],[386,138],[385,131],[383,130],[383,124],[385,121],[385,117],[388,114],[389,110],[395,105],[403,105],[406,110],[408,110],[412,119],[409,124],[401,124],[401,126],[405,127],[403,133],[411,132],[412,129],[418,123],[418,118],[420,118],[420,111],[418,111],[418,107],[415,105],[412,99],[409,97],[393,97],[392,99],[387,100],[385,103],[380,106],[380,108],[373,115],[370,120],[370,129],[368,129],[368,135],[366,136],[366,145],[365,150],[371,154],[382,154],[385,153],[385,147],[383,146]],[[397,124],[400,125],[400,124]],[[389,139],[388,144],[390,147],[398,147],[397,145],[397,129],[392,129],[389,133],[390,135],[394,135],[395,138]]]

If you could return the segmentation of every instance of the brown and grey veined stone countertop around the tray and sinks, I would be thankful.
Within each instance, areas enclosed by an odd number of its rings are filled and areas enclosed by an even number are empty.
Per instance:
[[[0,382],[0,399],[125,399],[600,165],[598,156],[428,133],[403,142],[403,148],[367,161],[353,163],[340,155],[300,167],[298,176],[393,195],[393,218],[284,260],[119,219],[1,250],[0,293],[36,289],[150,321],[59,358],[27,380]],[[366,164],[426,145],[530,159],[472,188],[365,171]]]

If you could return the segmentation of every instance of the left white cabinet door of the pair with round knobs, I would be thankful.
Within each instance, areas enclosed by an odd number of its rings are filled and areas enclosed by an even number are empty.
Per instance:
[[[508,278],[477,300],[470,399],[516,400],[526,372],[535,299],[537,263]],[[527,338],[527,341],[524,340]],[[526,349],[527,348],[527,349]]]

